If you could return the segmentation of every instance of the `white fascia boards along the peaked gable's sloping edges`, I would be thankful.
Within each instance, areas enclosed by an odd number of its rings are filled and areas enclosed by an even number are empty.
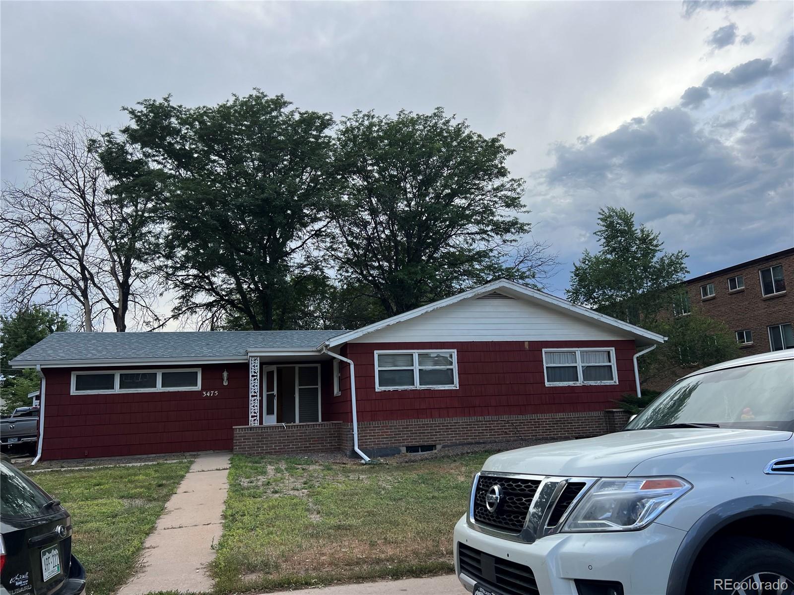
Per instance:
[[[387,328],[392,324],[410,321],[412,318],[422,316],[422,314],[426,314],[435,309],[444,308],[447,305],[452,305],[458,301],[463,301],[468,298],[476,298],[480,295],[490,294],[492,291],[496,290],[507,290],[507,294],[518,294],[517,296],[513,297],[530,298],[530,300],[542,302],[544,305],[550,306],[554,309],[565,310],[566,312],[575,316],[588,318],[613,328],[619,328],[631,336],[649,340],[650,344],[662,344],[665,342],[665,340],[667,340],[667,337],[665,336],[658,335],[655,332],[647,331],[645,328],[640,328],[634,324],[619,321],[617,318],[595,312],[594,310],[584,308],[584,306],[573,304],[568,300],[557,298],[551,294],[534,290],[531,287],[526,287],[513,281],[507,281],[507,279],[498,279],[497,281],[492,281],[483,286],[475,287],[472,290],[464,291],[462,294],[453,295],[451,298],[434,301],[432,304],[423,305],[420,308],[409,310],[406,313],[387,318],[384,321],[368,324],[368,326],[359,328],[355,331],[345,332],[342,335],[337,335],[327,340],[325,344],[321,345],[320,347],[335,347],[337,345],[345,344],[349,341],[358,339],[360,336],[368,335],[370,332],[380,331],[382,328]]]

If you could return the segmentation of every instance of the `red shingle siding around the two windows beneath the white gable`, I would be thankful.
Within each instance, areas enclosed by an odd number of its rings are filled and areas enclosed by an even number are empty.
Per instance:
[[[616,385],[545,386],[542,349],[615,347]],[[375,390],[377,350],[457,349],[457,390]],[[633,340],[477,341],[461,343],[353,343],[342,355],[356,365],[359,421],[577,413],[615,407],[634,393]],[[333,397],[328,419],[349,422],[349,366],[342,366],[342,393]],[[324,418],[325,419],[325,418]]]

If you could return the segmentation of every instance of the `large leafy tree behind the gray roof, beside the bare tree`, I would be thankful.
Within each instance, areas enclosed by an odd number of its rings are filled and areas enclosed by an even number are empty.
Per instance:
[[[170,98],[125,108],[104,163],[119,194],[155,194],[160,274],[174,316],[269,330],[294,321],[325,272],[333,201],[329,113],[256,90],[217,106]]]

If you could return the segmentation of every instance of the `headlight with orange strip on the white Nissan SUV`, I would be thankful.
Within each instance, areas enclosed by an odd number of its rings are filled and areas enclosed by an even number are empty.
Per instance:
[[[565,532],[636,531],[692,489],[680,478],[599,479],[573,509]]]

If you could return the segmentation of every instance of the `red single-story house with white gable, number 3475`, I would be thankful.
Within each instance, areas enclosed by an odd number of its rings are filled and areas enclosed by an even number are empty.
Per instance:
[[[230,449],[366,456],[618,428],[665,337],[504,280],[354,331],[56,332],[43,459]]]

